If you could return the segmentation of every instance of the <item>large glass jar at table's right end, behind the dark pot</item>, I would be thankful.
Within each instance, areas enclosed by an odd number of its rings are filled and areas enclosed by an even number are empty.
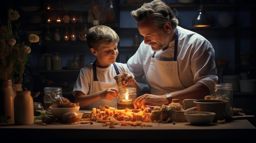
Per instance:
[[[233,88],[232,84],[215,84],[214,99],[227,100],[225,109],[225,119],[231,119],[233,116]]]

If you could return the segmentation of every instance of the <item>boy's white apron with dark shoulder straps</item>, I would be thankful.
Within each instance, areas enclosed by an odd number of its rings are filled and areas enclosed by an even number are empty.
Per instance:
[[[90,90],[89,94],[92,94],[92,93],[95,93],[95,92],[99,92],[99,91],[105,90],[107,88],[116,88],[116,89],[118,89],[116,81],[111,82],[111,83],[106,83],[106,82],[98,81],[95,62],[92,64],[92,66],[93,66],[94,81],[92,81],[92,90]],[[115,67],[117,75],[119,75],[119,71],[117,69],[116,64],[114,63],[113,66]],[[92,108],[97,108],[99,106],[105,106],[105,105],[117,108],[117,98],[115,97],[112,100],[100,99],[100,100],[90,104],[89,108],[92,109]]]

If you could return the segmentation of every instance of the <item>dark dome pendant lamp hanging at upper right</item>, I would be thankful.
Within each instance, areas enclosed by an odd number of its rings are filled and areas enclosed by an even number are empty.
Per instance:
[[[198,13],[193,18],[192,26],[193,27],[213,26],[213,16],[204,11],[202,0],[200,0],[200,7],[198,9]]]

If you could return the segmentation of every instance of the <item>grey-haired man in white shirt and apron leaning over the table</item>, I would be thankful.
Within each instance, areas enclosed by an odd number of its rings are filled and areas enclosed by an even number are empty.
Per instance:
[[[131,11],[144,36],[128,60],[137,82],[148,84],[151,94],[135,100],[135,108],[161,106],[172,99],[202,99],[218,82],[215,51],[202,35],[178,26],[171,8],[161,0]]]

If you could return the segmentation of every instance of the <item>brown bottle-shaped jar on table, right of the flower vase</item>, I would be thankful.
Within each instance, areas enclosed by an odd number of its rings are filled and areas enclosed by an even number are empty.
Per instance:
[[[14,123],[31,125],[34,123],[34,103],[31,91],[16,91],[14,98]]]

